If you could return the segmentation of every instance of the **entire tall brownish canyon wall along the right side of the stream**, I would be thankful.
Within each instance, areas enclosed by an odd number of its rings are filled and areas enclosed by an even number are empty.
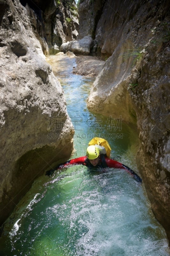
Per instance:
[[[97,2],[80,1],[79,37],[92,36],[106,59],[87,105],[137,125],[138,168],[170,238],[170,8],[165,1]]]

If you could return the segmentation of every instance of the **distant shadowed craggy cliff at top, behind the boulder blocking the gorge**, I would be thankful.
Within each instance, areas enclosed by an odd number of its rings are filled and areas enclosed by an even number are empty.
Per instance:
[[[44,54],[56,54],[62,43],[77,38],[79,15],[74,0],[20,0],[20,3],[30,7],[30,23]]]

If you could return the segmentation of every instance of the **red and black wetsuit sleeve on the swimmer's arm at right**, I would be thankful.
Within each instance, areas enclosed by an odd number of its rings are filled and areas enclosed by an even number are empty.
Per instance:
[[[121,164],[111,158],[105,157],[105,161],[108,167],[113,167],[113,168],[120,168],[120,169],[124,169],[126,172],[130,172],[131,175],[133,176],[133,178],[135,180],[137,180],[138,182],[142,183],[142,179],[138,176],[138,174],[136,174],[133,170],[131,170],[131,168],[129,168],[128,166]]]

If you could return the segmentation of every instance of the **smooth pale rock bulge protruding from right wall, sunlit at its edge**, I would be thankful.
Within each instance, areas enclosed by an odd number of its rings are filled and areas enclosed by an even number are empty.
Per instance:
[[[131,72],[131,58],[121,64],[123,52],[122,45],[117,47],[114,54],[105,62],[92,86],[87,106],[96,113],[106,116],[121,115],[124,121],[133,123],[134,120],[129,115],[131,100],[126,89],[126,79]]]

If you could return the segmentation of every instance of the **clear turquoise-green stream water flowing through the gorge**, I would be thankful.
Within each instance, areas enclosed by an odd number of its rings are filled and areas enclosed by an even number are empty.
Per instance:
[[[74,59],[60,56],[57,62],[56,58],[50,56],[48,61],[63,86],[74,124],[73,158],[85,155],[89,140],[101,135],[112,148],[111,157],[140,175],[135,162],[137,136],[123,116],[108,119],[90,113],[86,98],[94,79],[73,75]],[[0,255],[169,256],[170,252],[143,184],[124,170],[94,172],[76,165],[35,180],[7,220]]]

